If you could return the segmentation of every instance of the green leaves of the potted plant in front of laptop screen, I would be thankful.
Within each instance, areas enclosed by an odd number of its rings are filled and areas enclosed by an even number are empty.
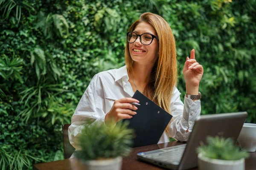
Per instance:
[[[208,158],[239,160],[249,156],[245,150],[240,150],[239,147],[233,143],[231,138],[224,139],[219,136],[208,136],[207,142],[208,145],[201,144],[201,146],[197,148],[197,152],[203,153],[204,156]]]

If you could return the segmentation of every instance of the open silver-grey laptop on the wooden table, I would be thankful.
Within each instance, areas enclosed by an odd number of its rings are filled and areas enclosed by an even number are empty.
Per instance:
[[[236,142],[247,112],[202,115],[195,121],[187,144],[137,153],[139,160],[172,170],[187,170],[198,166],[196,148],[207,136],[223,136]]]

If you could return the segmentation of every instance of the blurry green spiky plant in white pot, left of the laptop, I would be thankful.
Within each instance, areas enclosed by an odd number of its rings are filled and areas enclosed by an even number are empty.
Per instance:
[[[81,149],[74,154],[86,170],[121,170],[122,156],[131,152],[134,131],[126,122],[109,125],[89,122],[81,130]]]

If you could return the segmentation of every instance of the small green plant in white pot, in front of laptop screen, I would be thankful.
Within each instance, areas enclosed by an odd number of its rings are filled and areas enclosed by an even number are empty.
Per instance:
[[[207,137],[208,145],[197,148],[199,170],[244,170],[244,159],[249,156],[232,139]]]

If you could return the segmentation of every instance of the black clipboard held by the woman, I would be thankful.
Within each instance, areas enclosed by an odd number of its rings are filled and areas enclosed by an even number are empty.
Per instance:
[[[140,101],[137,106],[137,114],[128,121],[128,128],[134,129],[136,137],[133,139],[133,147],[157,144],[166,126],[172,119],[172,115],[160,108],[139,91],[132,97]]]

